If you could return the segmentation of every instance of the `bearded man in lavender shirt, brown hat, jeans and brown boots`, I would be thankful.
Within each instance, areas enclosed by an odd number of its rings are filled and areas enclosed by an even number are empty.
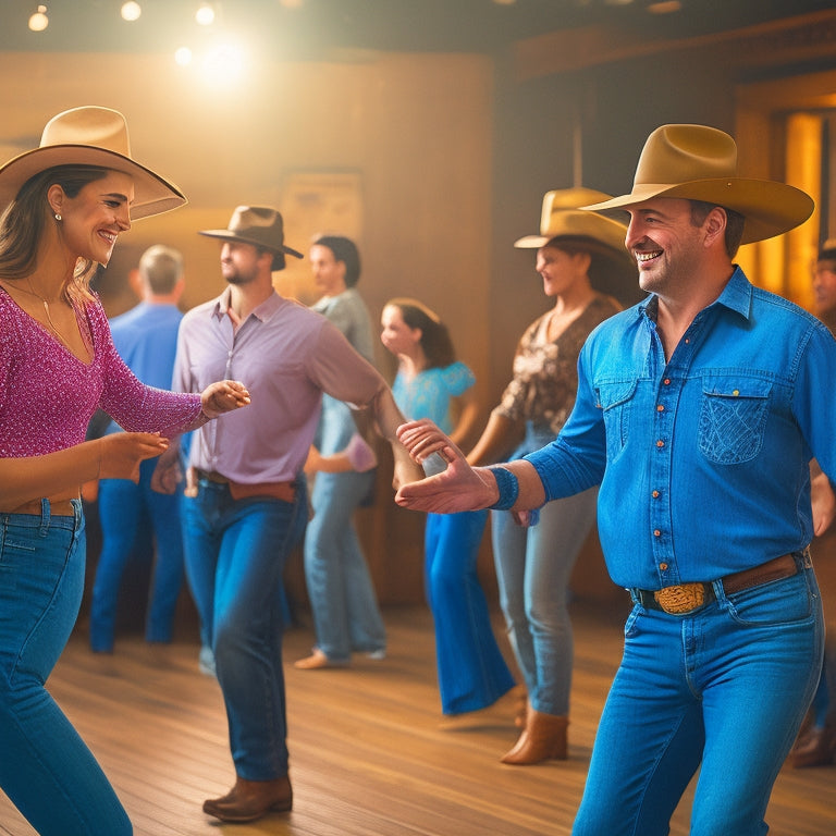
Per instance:
[[[271,272],[285,254],[281,214],[238,207],[220,238],[228,287],[183,319],[174,389],[238,377],[248,409],[193,434],[183,507],[186,575],[214,654],[226,704],[236,783],[204,812],[250,822],[291,809],[282,672],[282,570],[305,530],[303,465],[319,421],[322,393],[368,407],[391,443],[395,481],[422,476],[395,440],[403,417],[380,373],[325,317],[281,297]],[[223,373],[220,374],[220,371]],[[246,415],[245,415],[246,414]],[[171,488],[169,452],[157,483]]]

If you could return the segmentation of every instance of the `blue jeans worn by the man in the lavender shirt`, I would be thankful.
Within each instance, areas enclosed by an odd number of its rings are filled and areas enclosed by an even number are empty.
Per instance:
[[[234,501],[229,485],[205,479],[183,500],[186,577],[214,654],[235,772],[247,780],[287,774],[282,575],[307,511],[304,480],[292,503]]]

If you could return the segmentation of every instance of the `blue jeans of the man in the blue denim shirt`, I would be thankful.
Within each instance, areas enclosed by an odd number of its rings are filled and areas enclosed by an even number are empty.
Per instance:
[[[690,616],[634,606],[575,836],[666,835],[700,763],[691,836],[767,832],[819,678],[819,588],[809,565],[735,594],[714,586],[717,600]]]

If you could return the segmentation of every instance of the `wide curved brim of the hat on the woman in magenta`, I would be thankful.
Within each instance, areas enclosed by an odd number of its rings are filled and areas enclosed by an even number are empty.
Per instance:
[[[36,174],[57,165],[98,165],[127,174],[134,181],[131,220],[137,221],[184,206],[186,196],[173,183],[115,151],[90,145],[50,145],[14,157],[0,168],[0,211]]]

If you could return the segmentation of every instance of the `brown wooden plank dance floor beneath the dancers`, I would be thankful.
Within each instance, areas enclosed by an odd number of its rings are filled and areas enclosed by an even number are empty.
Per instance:
[[[362,657],[340,671],[288,665],[294,809],[251,825],[220,825],[200,810],[205,798],[226,791],[233,769],[221,697],[216,681],[198,672],[196,641],[152,648],[128,637],[114,655],[100,656],[89,653],[79,628],[49,687],[101,761],[137,836],[568,834],[618,660],[622,616],[575,605],[569,760],[563,763],[499,763],[517,736],[508,705],[444,727],[423,608],[385,612],[384,661]],[[285,659],[305,655],[310,642],[308,629],[290,631]],[[835,802],[836,767],[785,767],[770,833],[833,836]],[[674,836],[688,833],[687,808],[686,797]],[[33,833],[0,796],[0,834]]]

